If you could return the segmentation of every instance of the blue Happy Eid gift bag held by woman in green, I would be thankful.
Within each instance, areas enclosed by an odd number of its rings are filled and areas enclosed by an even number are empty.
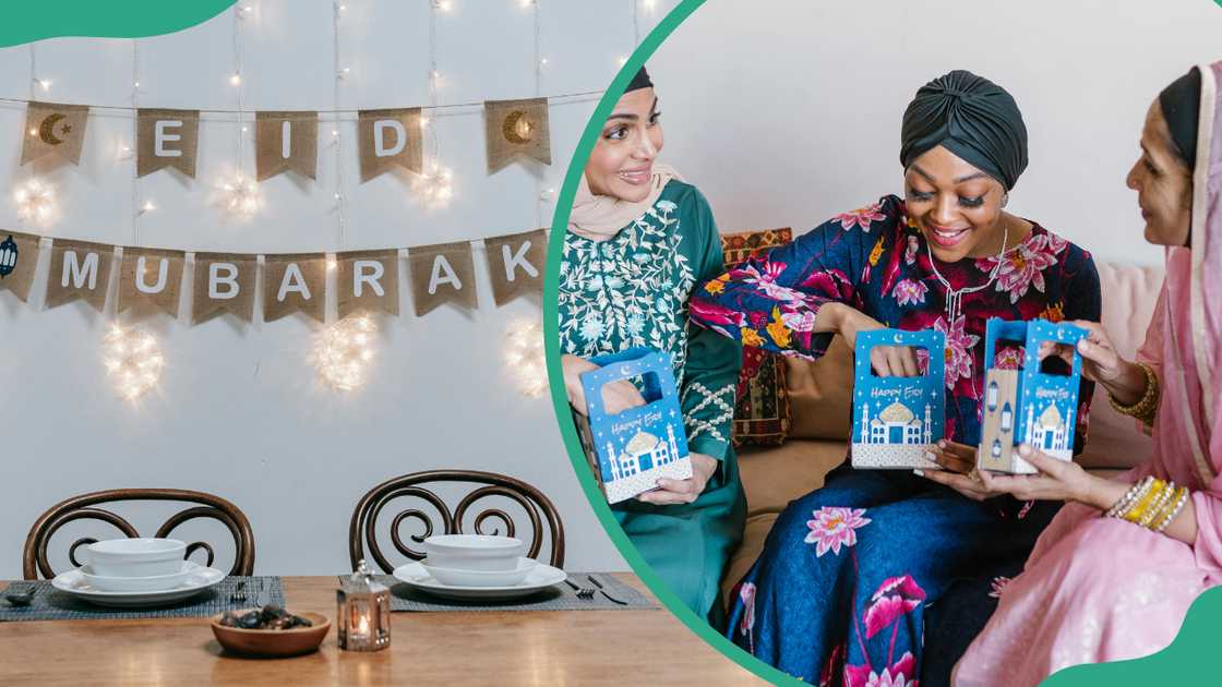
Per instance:
[[[585,411],[574,412],[582,446],[599,487],[611,504],[657,488],[657,479],[688,479],[687,433],[670,353],[631,348],[590,358],[599,369],[582,374]],[[607,414],[602,388],[640,378],[645,405]]]

